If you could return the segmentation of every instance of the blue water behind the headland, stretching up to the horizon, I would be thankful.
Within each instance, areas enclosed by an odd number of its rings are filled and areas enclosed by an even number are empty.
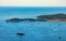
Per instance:
[[[38,15],[57,13],[66,14],[66,6],[0,6],[0,19],[12,17],[35,18]]]

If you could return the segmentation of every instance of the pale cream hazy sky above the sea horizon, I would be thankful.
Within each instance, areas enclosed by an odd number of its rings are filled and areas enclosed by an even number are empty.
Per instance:
[[[0,5],[66,6],[66,0],[0,0]]]

